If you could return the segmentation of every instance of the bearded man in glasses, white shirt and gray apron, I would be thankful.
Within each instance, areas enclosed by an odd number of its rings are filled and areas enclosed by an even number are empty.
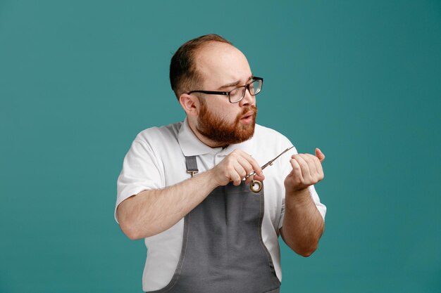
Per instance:
[[[263,79],[216,34],[178,49],[170,83],[186,119],[138,134],[118,178],[116,219],[147,246],[144,291],[279,292],[278,235],[309,256],[323,233],[323,153],[293,148],[263,174],[292,144],[255,124]]]

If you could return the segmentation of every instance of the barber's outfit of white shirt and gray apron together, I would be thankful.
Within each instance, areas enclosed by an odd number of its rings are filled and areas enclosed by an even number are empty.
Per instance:
[[[232,150],[247,152],[264,164],[291,145],[282,134],[258,124],[252,138],[227,148],[209,148],[201,143],[187,119],[146,129],[137,135],[125,156],[118,177],[116,208],[143,190],[187,180],[187,169],[207,171]],[[293,153],[297,153],[295,148],[265,169],[259,193],[252,192],[244,182],[220,186],[174,226],[145,238],[143,291],[279,292],[283,181],[292,170],[289,159]],[[188,162],[189,157],[194,158],[194,165]],[[326,207],[313,186],[309,190],[324,218]]]

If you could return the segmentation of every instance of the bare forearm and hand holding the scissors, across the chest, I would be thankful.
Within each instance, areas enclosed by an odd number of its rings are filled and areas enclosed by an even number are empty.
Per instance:
[[[130,239],[161,233],[197,207],[214,188],[231,181],[240,185],[251,171],[256,175],[249,176],[246,183],[265,178],[255,159],[242,150],[233,150],[209,171],[166,188],[144,190],[121,202],[116,210],[120,227]]]

